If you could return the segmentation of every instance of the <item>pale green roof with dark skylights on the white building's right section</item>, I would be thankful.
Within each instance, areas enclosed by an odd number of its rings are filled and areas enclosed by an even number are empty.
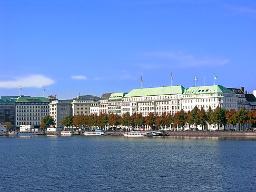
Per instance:
[[[212,86],[201,86],[201,87],[189,87],[185,90],[184,95],[190,94],[213,94],[213,93],[231,93],[234,94],[228,88],[225,88],[221,85],[212,85]]]

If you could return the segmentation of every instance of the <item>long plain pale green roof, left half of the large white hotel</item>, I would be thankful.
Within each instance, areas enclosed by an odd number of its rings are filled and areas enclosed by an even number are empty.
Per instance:
[[[183,86],[170,86],[170,87],[154,87],[133,89],[124,97],[140,97],[140,96],[152,96],[152,95],[172,95],[183,94],[185,88]]]

